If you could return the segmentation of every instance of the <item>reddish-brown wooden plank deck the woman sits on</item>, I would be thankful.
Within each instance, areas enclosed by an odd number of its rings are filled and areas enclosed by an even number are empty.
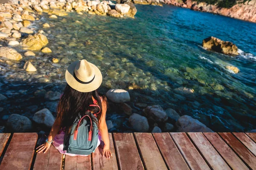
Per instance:
[[[111,159],[36,153],[37,133],[0,133],[0,170],[256,170],[256,133],[109,133]]]

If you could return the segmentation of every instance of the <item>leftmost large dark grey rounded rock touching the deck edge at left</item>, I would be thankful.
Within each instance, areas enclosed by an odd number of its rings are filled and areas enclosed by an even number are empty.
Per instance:
[[[9,116],[6,125],[13,132],[28,132],[32,130],[32,122],[26,116],[12,114]]]

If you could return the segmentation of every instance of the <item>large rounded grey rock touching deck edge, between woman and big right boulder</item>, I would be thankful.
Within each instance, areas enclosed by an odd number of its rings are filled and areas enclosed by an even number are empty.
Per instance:
[[[129,117],[129,122],[131,127],[137,132],[148,132],[149,130],[148,119],[144,116],[140,116],[137,113],[133,113]]]

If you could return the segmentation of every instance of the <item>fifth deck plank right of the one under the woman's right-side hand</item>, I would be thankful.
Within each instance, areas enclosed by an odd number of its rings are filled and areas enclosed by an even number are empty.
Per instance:
[[[230,170],[230,167],[221,158],[212,144],[206,139],[203,133],[188,133],[198,150],[214,170]]]

